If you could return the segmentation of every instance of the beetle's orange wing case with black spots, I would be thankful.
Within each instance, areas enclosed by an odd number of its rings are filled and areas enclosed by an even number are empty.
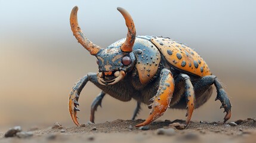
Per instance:
[[[150,41],[161,51],[169,64],[177,67],[177,69],[201,77],[211,75],[211,71],[209,71],[209,67],[203,58],[189,46],[169,38],[153,37]]]

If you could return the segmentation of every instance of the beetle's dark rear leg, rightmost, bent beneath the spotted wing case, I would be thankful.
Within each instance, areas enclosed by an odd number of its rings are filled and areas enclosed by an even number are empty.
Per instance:
[[[224,108],[224,112],[226,112],[226,116],[224,117],[224,123],[225,123],[231,117],[232,106],[230,104],[229,97],[227,97],[227,94],[222,88],[221,83],[218,81],[217,77],[216,76],[202,77],[201,80],[196,82],[194,87],[195,89],[204,88],[204,87],[208,88],[212,84],[214,84],[217,89],[217,97],[215,98],[215,101],[220,100],[222,104],[220,108]]]

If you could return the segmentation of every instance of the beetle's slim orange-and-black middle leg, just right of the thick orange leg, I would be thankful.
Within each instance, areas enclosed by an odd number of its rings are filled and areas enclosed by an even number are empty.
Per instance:
[[[175,79],[175,81],[181,81],[181,80],[184,80],[184,84],[185,84],[184,95],[186,97],[186,102],[187,102],[186,125],[188,125],[192,117],[193,111],[195,109],[195,101],[196,101],[195,92],[194,92],[193,85],[190,81],[190,77],[187,74],[179,74]]]

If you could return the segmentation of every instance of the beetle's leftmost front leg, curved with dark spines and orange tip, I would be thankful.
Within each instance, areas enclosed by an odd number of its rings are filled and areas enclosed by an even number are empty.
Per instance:
[[[84,86],[87,84],[89,79],[90,78],[88,76],[82,77],[82,79],[80,79],[77,83],[75,83],[75,85],[73,86],[69,94],[69,113],[73,122],[76,125],[79,125],[78,119],[77,119],[78,117],[76,116],[76,111],[80,111],[79,108],[77,107],[79,105],[78,103],[79,95],[82,89],[84,88]]]

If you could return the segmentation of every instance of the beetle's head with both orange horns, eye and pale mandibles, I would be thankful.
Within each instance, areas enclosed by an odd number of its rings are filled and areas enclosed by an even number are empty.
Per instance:
[[[125,75],[133,69],[135,64],[135,55],[132,52],[136,36],[134,22],[126,10],[118,7],[118,11],[125,18],[128,28],[127,38],[120,47],[109,47],[107,49],[95,45],[82,33],[77,20],[78,7],[74,7],[70,14],[70,26],[73,35],[91,55],[97,58],[99,69],[97,80],[101,85],[113,85],[124,79]]]

